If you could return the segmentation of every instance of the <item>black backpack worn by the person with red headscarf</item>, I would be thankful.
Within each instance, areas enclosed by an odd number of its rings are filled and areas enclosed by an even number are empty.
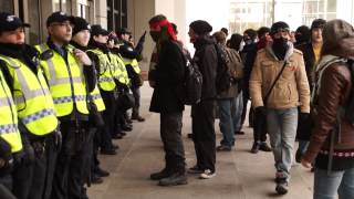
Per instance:
[[[181,101],[185,105],[198,104],[201,100],[202,75],[198,65],[190,59],[190,56],[188,56],[188,54],[184,53],[180,45],[178,46],[186,63],[181,88]]]

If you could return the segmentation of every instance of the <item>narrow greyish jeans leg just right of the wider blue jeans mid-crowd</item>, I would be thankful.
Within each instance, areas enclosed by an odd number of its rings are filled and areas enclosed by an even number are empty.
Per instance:
[[[243,96],[242,92],[232,101],[231,115],[233,122],[233,130],[240,132],[242,128]]]

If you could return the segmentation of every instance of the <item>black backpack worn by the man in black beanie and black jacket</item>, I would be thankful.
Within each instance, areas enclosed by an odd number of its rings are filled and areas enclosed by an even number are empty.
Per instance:
[[[216,88],[217,94],[228,91],[232,84],[232,75],[228,67],[228,55],[218,44],[215,44],[218,57],[217,76],[216,76]]]

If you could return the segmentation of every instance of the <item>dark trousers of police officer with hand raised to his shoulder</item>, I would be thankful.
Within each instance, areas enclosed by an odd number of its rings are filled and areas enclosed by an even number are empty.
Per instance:
[[[58,156],[51,199],[81,199],[88,148],[87,122],[62,122],[63,147]]]

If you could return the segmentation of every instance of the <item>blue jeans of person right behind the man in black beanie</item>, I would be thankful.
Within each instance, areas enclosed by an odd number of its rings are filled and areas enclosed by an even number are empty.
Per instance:
[[[235,145],[235,129],[231,116],[231,104],[235,98],[220,98],[218,100],[220,130],[222,133],[221,145],[232,147]]]

